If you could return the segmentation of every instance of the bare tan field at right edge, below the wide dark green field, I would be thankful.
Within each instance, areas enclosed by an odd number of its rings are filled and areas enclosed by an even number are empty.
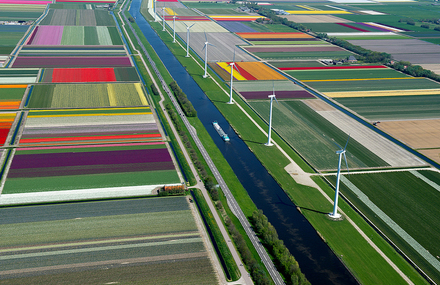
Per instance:
[[[412,148],[440,148],[440,120],[382,121],[377,126]]]

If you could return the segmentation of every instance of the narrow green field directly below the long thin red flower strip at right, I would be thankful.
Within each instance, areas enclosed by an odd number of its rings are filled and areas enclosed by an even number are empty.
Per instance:
[[[290,70],[285,72],[298,80],[410,77],[394,69]]]

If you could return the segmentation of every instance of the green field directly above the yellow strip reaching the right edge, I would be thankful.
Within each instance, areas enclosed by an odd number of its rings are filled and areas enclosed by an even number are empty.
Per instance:
[[[440,84],[426,78],[392,80],[350,80],[307,82],[320,92],[438,89]]]

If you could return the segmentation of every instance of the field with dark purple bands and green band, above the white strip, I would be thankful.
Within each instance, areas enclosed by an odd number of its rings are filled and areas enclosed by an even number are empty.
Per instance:
[[[165,143],[15,151],[2,194],[180,183]]]

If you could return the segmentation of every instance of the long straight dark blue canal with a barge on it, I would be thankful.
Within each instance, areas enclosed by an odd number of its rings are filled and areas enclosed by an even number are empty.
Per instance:
[[[197,116],[255,205],[263,210],[279,238],[295,256],[302,272],[312,284],[357,284],[350,272],[330,250],[315,229],[298,212],[283,189],[269,175],[247,145],[235,134],[223,115],[206,97],[185,68],[169,51],[149,23],[140,14],[141,0],[133,0],[130,14],[154,48],[171,76],[187,94]],[[231,141],[225,143],[212,127],[217,120]]]

